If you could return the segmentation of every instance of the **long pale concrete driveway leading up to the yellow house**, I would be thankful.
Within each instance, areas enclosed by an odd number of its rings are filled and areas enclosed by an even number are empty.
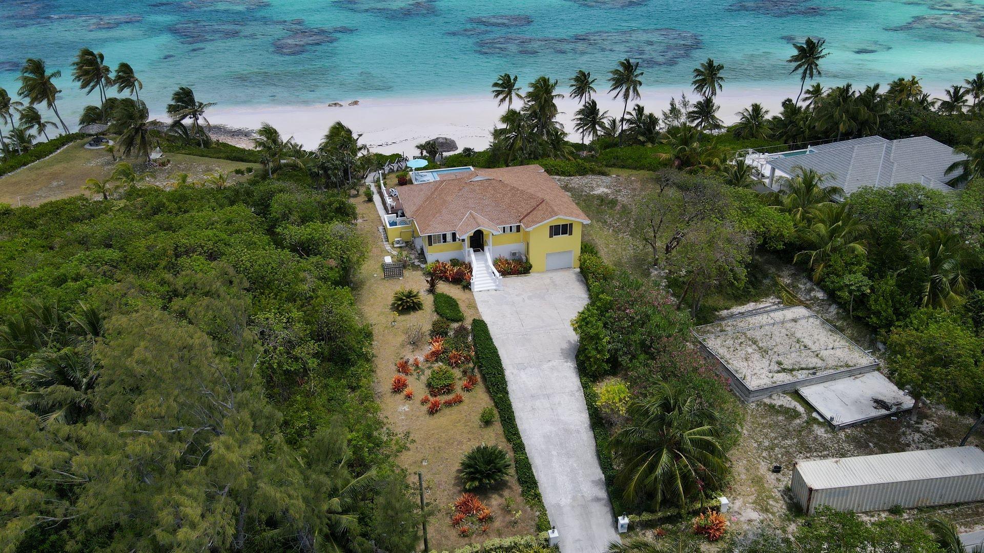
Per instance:
[[[503,278],[475,292],[499,348],[523,443],[563,553],[599,553],[618,539],[575,365],[571,320],[587,303],[575,270]]]

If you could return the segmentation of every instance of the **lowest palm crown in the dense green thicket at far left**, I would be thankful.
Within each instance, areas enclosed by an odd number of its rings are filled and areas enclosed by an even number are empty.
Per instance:
[[[17,376],[25,390],[22,405],[45,423],[64,424],[80,422],[92,411],[97,379],[92,356],[72,347],[34,356],[31,365]]]

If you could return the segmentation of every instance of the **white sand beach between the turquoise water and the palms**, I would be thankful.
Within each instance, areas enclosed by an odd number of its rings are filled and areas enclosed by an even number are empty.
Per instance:
[[[645,88],[639,100],[648,111],[656,115],[669,105],[670,97],[680,96],[683,89]],[[689,89],[686,89],[689,92]],[[599,87],[599,92],[602,89]],[[566,87],[558,92],[567,92]],[[735,113],[753,102],[761,102],[772,113],[778,110],[783,98],[795,96],[799,87],[790,84],[788,88],[725,88],[717,96],[721,106],[718,111],[725,123],[737,120]],[[696,99],[696,94],[688,93]],[[609,115],[618,117],[622,104],[609,94],[599,94],[596,99]],[[333,100],[334,101],[334,100]],[[284,137],[294,137],[307,148],[317,146],[329,126],[341,121],[362,134],[362,144],[373,152],[382,154],[413,154],[413,146],[435,137],[448,137],[458,142],[459,148],[470,147],[482,150],[488,147],[490,133],[497,119],[505,111],[491,94],[469,97],[412,98],[412,99],[360,99],[358,105],[347,105],[350,100],[339,100],[340,107],[323,105],[289,107],[240,107],[216,108],[210,111],[209,120],[213,124],[230,127],[258,128],[263,122],[277,127]],[[630,102],[629,107],[632,108]],[[574,136],[571,122],[578,102],[570,98],[558,101],[562,113],[558,118],[565,129]]]

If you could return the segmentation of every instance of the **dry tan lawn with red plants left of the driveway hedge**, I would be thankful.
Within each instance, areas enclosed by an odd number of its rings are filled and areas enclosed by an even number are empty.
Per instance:
[[[414,485],[416,472],[418,470],[423,472],[424,498],[433,511],[427,521],[431,549],[454,550],[492,537],[533,533],[536,515],[523,502],[515,467],[505,485],[493,492],[477,494],[495,516],[487,533],[481,534],[477,531],[478,528],[472,528],[471,536],[461,537],[459,530],[451,525],[450,506],[463,491],[459,476],[461,457],[482,443],[498,445],[510,454],[513,450],[503,435],[498,416],[489,426],[482,426],[478,421],[482,409],[490,406],[494,408],[492,399],[486,392],[484,381],[480,382],[473,392],[462,392],[464,401],[461,404],[442,408],[434,415],[429,415],[426,407],[419,401],[427,393],[424,385],[426,374],[418,377],[414,373],[407,377],[409,387],[414,391],[412,400],[406,400],[402,394],[393,394],[390,391],[393,377],[397,374],[397,361],[405,357],[413,359],[414,356],[423,359],[429,349],[426,339],[415,348],[407,345],[406,330],[419,325],[426,335],[437,315],[434,314],[432,296],[424,292],[426,282],[419,270],[408,268],[402,279],[383,279],[380,264],[383,257],[389,254],[380,242],[380,233],[377,230],[380,224],[379,215],[371,202],[365,202],[361,197],[353,202],[358,209],[359,231],[372,245],[368,260],[362,267],[354,288],[356,303],[362,310],[365,320],[373,327],[376,399],[387,417],[389,427],[406,440],[406,449],[400,454],[398,461],[409,472]],[[424,308],[400,315],[396,318],[397,324],[394,326],[390,302],[393,293],[402,286],[420,290],[424,299]],[[458,300],[461,312],[464,314],[464,324],[470,327],[471,319],[479,317],[474,296],[470,291],[447,282],[441,282],[438,291]],[[454,324],[452,328],[454,329]],[[459,391],[463,380],[463,377],[459,379]],[[514,503],[512,512],[506,508],[507,498],[512,498]],[[521,513],[519,518],[515,516],[516,512]]]

